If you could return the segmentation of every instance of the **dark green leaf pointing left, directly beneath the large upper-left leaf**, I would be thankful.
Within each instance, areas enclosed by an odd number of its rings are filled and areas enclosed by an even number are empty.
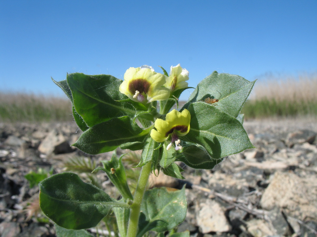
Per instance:
[[[123,143],[142,142],[148,130],[142,130],[129,117],[110,119],[84,131],[73,146],[96,155],[113,151]]]

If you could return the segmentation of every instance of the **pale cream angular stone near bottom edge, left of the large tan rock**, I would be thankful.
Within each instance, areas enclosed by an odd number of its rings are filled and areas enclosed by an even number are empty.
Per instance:
[[[200,199],[204,200],[204,199]],[[201,233],[228,232],[231,229],[224,208],[214,200],[205,199],[197,205],[197,225]]]

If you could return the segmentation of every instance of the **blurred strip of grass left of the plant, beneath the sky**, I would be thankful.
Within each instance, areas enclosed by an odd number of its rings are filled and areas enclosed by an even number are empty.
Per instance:
[[[73,121],[69,100],[25,93],[0,92],[2,122]]]

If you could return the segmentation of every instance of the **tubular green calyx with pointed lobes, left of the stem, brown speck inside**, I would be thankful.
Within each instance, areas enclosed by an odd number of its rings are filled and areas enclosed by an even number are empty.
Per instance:
[[[104,168],[98,167],[94,171],[103,170],[104,172],[106,172],[108,178],[111,180],[113,185],[116,186],[116,188],[119,190],[122,197],[125,199],[133,200],[133,196],[126,182],[126,172],[121,161],[122,156],[120,157],[120,159],[118,159],[115,152],[113,152],[110,161],[101,161]]]

